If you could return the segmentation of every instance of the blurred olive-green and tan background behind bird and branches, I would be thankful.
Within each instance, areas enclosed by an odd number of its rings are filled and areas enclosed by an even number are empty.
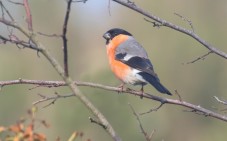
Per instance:
[[[16,1],[16,0],[15,0]],[[22,1],[22,0],[21,0]],[[17,2],[20,2],[19,0]],[[35,32],[61,34],[66,10],[65,0],[29,1],[32,10]],[[176,16],[178,13],[193,23],[194,30],[201,38],[218,49],[227,52],[227,1],[213,0],[134,0],[135,4],[160,18],[179,26],[191,29],[189,24]],[[16,17],[16,21],[26,27],[25,11],[22,6],[3,1],[6,8]],[[183,100],[220,112],[223,105],[213,96],[227,99],[227,61],[211,54],[205,60],[185,64],[205,54],[208,50],[201,44],[172,29],[154,28],[144,20],[144,16],[115,2],[108,0],[88,0],[86,3],[73,3],[68,26],[69,73],[74,80],[89,81],[105,85],[118,86],[120,81],[112,74],[107,61],[104,32],[113,27],[123,28],[134,35],[147,50],[161,82],[172,92],[178,90]],[[0,24],[0,34],[7,35],[8,29]],[[18,34],[13,30],[14,34]],[[19,36],[19,34],[18,34]],[[21,37],[23,38],[23,37]],[[62,64],[62,40],[37,35]],[[0,80],[38,79],[61,80],[49,62],[31,49],[20,49],[15,45],[0,44]],[[0,125],[14,124],[32,103],[40,99],[37,94],[47,96],[68,94],[70,90],[60,88],[33,88],[32,85],[13,85],[0,91]],[[130,87],[130,86],[129,86]],[[140,87],[133,87],[140,89]],[[127,94],[116,94],[100,89],[81,87],[82,92],[106,116],[116,132],[124,141],[145,140],[136,117],[128,103],[138,113],[145,112],[158,102],[140,99]],[[160,95],[152,86],[145,91]],[[47,103],[38,105],[36,117],[45,119],[50,129],[37,126],[36,130],[45,133],[48,140],[67,140],[74,131],[84,133],[82,140],[111,140],[109,135],[88,117],[93,115],[76,97],[60,99],[54,105],[43,108]],[[153,129],[155,141],[214,141],[226,140],[227,123],[184,112],[186,108],[164,105],[157,112],[141,116],[144,129],[150,133]],[[221,112],[226,114],[225,111]]]

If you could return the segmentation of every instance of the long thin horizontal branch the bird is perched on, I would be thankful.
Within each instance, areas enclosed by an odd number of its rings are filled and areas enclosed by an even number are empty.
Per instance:
[[[122,88],[119,88],[119,87],[112,87],[112,86],[107,86],[107,85],[102,85],[102,84],[97,84],[97,83],[81,82],[81,81],[74,81],[74,83],[76,84],[76,86],[92,87],[92,88],[98,88],[98,89],[116,92],[114,94],[118,94],[119,91],[122,91],[123,93],[136,95],[139,97],[141,96],[140,91],[130,90],[127,88],[122,90]],[[39,85],[39,86],[46,86],[46,87],[66,86],[66,83],[64,81],[43,81],[43,80],[26,80],[26,79],[0,81],[0,87],[4,87],[4,86],[8,86],[8,85],[16,85],[16,84],[32,84],[32,85]],[[164,106],[164,104],[172,104],[172,105],[176,105],[176,106],[179,105],[181,107],[189,108],[189,109],[193,110],[194,112],[202,113],[206,117],[212,117],[212,118],[227,122],[227,116],[218,114],[216,112],[203,108],[199,105],[194,105],[192,103],[183,101],[182,99],[177,100],[177,99],[164,98],[164,97],[155,96],[155,95],[152,95],[149,93],[144,93],[143,98],[158,101],[161,103],[161,106]]]

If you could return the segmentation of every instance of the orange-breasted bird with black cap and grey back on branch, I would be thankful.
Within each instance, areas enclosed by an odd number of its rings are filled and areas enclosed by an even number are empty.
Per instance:
[[[143,87],[149,83],[160,93],[172,95],[161,84],[147,52],[131,33],[121,28],[112,28],[103,34],[103,38],[106,40],[111,70],[123,82],[119,86],[122,90],[125,84],[141,85],[143,96]]]

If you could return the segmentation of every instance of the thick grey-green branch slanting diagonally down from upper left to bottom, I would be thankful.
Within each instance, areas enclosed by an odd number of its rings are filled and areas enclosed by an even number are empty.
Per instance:
[[[87,109],[90,110],[98,119],[99,121],[106,126],[107,133],[115,140],[115,141],[121,141],[121,138],[118,137],[116,132],[114,131],[112,125],[107,121],[107,119],[104,117],[104,115],[90,102],[90,100],[87,99],[87,97],[81,93],[79,88],[74,84],[72,79],[70,77],[67,77],[65,75],[64,69],[60,66],[60,64],[55,60],[55,58],[52,56],[52,54],[46,49],[44,45],[42,45],[41,42],[39,42],[36,39],[36,36],[34,33],[30,33],[23,27],[21,27],[18,23],[14,21],[7,21],[3,18],[0,18],[0,23],[3,23],[6,26],[10,26],[12,28],[15,28],[20,31],[23,35],[25,35],[29,40],[29,46],[33,46],[38,50],[48,61],[49,63],[54,67],[54,69],[58,72],[58,74],[62,77],[65,84],[72,90],[73,94],[87,107]],[[3,40],[3,43],[10,42],[10,40],[4,40],[1,36],[1,39]],[[7,39],[7,38],[6,38]],[[13,42],[10,42],[13,43]],[[33,49],[34,49],[33,48]],[[20,81],[20,80],[19,80]],[[1,88],[1,87],[0,87]]]

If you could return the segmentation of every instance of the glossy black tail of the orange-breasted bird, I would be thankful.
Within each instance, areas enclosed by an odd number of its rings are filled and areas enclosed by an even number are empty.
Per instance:
[[[168,95],[172,95],[169,90],[167,90],[161,83],[160,80],[158,79],[157,76],[153,76],[151,74],[148,74],[146,72],[140,72],[139,73],[143,79],[145,79],[147,82],[149,82],[151,85],[153,85],[160,93],[165,93]]]

